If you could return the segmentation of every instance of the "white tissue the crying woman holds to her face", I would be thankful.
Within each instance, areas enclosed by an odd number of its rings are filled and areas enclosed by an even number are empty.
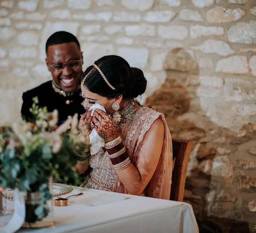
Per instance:
[[[95,109],[101,109],[106,113],[106,110],[104,109],[103,106],[95,103],[88,110],[88,111],[92,111],[91,116],[93,116]],[[98,134],[98,132],[95,129],[92,129],[92,132],[90,133],[89,138],[90,138],[91,154],[96,154],[100,150],[100,147],[103,147],[105,145],[104,139]]]

